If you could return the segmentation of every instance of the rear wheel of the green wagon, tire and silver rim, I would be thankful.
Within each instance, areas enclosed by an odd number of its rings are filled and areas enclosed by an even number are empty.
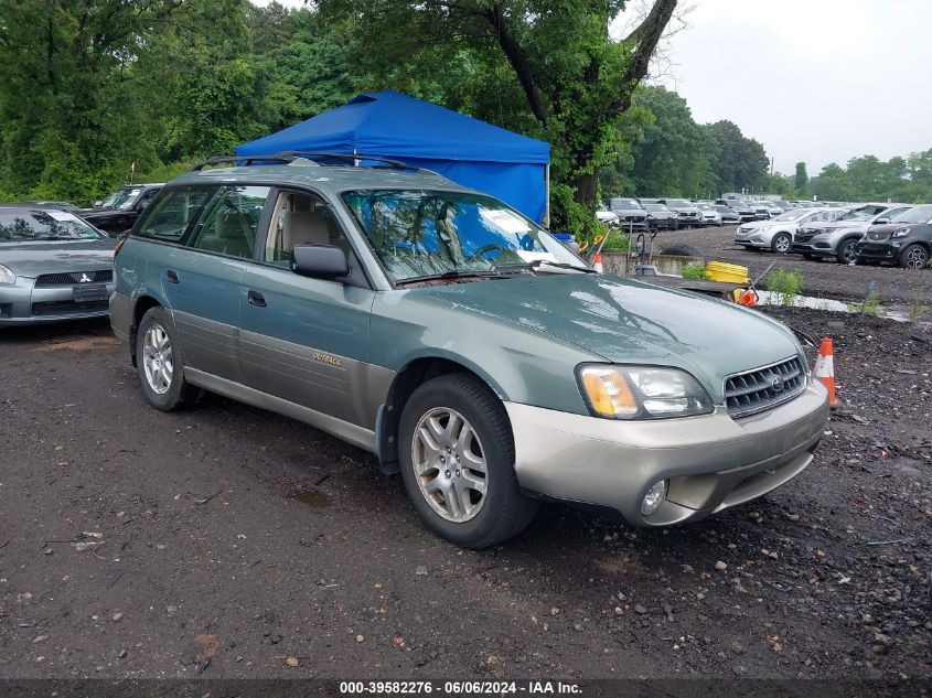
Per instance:
[[[184,379],[174,325],[162,308],[150,308],[136,333],[136,367],[146,400],[162,411],[188,407],[199,390]]]

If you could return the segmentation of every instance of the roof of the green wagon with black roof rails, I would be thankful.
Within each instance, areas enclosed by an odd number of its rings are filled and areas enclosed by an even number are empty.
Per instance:
[[[332,193],[351,189],[441,189],[471,192],[430,170],[318,164],[261,164],[192,171],[170,185],[235,184],[306,185]]]

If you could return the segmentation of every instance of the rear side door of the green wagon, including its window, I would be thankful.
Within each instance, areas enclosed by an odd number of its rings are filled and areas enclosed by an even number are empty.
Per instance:
[[[268,186],[217,189],[186,244],[162,256],[162,293],[189,368],[243,382],[240,284],[269,191]]]

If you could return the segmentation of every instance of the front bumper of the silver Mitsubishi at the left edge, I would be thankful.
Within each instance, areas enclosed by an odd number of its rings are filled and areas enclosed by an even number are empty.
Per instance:
[[[107,297],[116,288],[113,281],[101,286]],[[77,302],[75,286],[35,287],[32,279],[22,278],[0,287],[0,326],[105,318],[108,312],[107,300]]]

